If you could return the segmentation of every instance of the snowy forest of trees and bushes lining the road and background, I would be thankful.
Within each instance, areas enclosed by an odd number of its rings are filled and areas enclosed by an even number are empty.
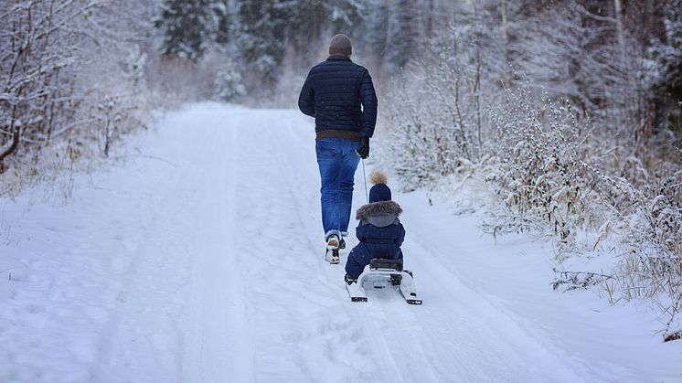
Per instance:
[[[555,289],[650,303],[682,336],[681,0],[6,0],[0,20],[0,195],[107,161],[156,110],[295,108],[345,33],[405,190],[548,239]]]

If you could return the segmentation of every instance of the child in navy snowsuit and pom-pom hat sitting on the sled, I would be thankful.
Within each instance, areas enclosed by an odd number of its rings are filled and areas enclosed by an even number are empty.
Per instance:
[[[400,245],[405,239],[405,228],[398,218],[402,208],[391,201],[387,179],[379,171],[369,176],[369,182],[374,186],[369,189],[369,203],[357,209],[356,219],[360,223],[356,237],[360,243],[348,254],[345,277],[348,285],[357,282],[365,266],[375,258],[402,259]]]

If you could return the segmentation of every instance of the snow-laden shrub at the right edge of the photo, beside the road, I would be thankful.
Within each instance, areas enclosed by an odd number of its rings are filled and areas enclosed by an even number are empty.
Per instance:
[[[617,236],[613,275],[625,300],[650,299],[662,311],[666,338],[682,334],[682,170],[661,166],[639,172],[641,186],[623,176],[593,170],[600,201],[609,207],[598,238]]]

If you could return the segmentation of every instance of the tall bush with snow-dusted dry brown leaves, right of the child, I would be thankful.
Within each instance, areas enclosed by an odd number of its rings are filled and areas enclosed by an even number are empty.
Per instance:
[[[496,208],[485,222],[493,235],[549,229],[562,248],[594,218],[585,172],[588,131],[570,105],[536,104],[526,87],[506,90],[490,111],[496,144],[483,163]]]

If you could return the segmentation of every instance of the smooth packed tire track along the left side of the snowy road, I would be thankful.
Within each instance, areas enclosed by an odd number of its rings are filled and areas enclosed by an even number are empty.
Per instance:
[[[239,121],[240,114],[234,114],[230,117]],[[227,113],[220,113],[203,127],[203,153],[197,157],[201,161],[193,164],[193,184],[202,193],[187,217],[195,219],[195,236],[184,381],[252,379],[243,284],[234,269],[240,260],[235,237],[240,129],[239,123],[224,123],[225,117]]]

